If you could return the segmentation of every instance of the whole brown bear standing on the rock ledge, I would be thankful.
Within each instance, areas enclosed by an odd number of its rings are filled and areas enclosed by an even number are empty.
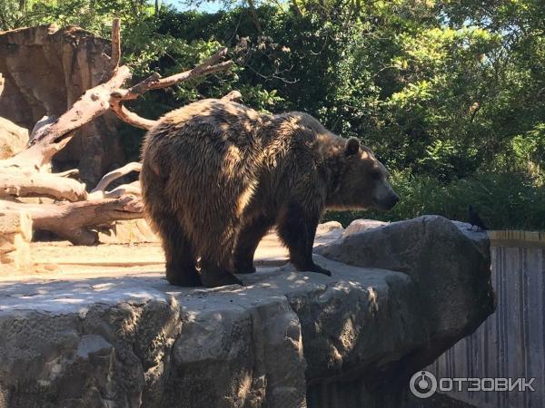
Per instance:
[[[206,287],[254,272],[255,249],[273,226],[297,270],[331,275],[312,261],[323,211],[391,209],[399,198],[388,178],[372,151],[308,114],[213,99],[169,112],[148,131],[140,176],[167,280]]]

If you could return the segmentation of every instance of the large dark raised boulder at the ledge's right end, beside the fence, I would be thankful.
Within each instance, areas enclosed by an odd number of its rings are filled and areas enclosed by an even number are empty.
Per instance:
[[[381,367],[381,381],[389,384],[430,364],[494,311],[490,241],[482,238],[486,233],[470,234],[440,216],[365,224],[359,223],[356,230],[361,232],[344,234],[315,252],[348,265],[398,271],[411,279],[421,309],[418,330],[428,343]]]

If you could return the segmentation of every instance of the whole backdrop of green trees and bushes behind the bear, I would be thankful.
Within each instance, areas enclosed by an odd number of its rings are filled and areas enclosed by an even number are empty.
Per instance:
[[[463,219],[471,202],[492,227],[543,228],[540,0],[263,1],[253,11],[257,24],[248,3],[231,0],[213,14],[144,0],[0,0],[0,29],[55,22],[107,36],[120,16],[134,80],[226,45],[233,73],[150,92],[131,109],[156,118],[237,89],[255,109],[309,112],[372,147],[402,198],[373,217]],[[142,135],[122,130],[131,158]]]

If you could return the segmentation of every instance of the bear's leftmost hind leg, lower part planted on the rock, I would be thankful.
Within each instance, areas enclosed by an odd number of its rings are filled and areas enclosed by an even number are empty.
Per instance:
[[[165,218],[158,227],[166,261],[166,280],[178,287],[203,286],[191,242],[178,221]]]

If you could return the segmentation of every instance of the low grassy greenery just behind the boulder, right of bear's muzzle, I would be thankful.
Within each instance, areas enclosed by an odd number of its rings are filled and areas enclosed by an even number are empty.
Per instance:
[[[481,173],[445,184],[429,176],[394,172],[392,184],[402,197],[391,211],[328,211],[324,220],[347,226],[354,219],[399,221],[425,214],[467,220],[471,204],[488,228],[545,229],[545,189],[520,173]]]

